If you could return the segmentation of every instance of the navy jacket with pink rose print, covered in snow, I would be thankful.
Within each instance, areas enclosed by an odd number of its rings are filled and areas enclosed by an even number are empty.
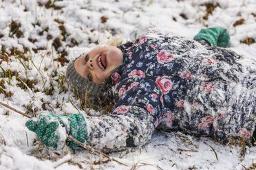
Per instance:
[[[87,144],[118,151],[147,143],[156,127],[250,143],[256,120],[256,61],[149,29],[122,50],[111,75],[111,114],[86,117]]]

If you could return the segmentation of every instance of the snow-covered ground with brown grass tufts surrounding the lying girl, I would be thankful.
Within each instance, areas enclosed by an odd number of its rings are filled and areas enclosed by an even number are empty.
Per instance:
[[[255,9],[255,0],[1,0],[0,101],[31,116],[84,112],[65,84],[67,62],[118,32],[125,42],[149,27],[193,38],[222,26],[231,49],[256,57]],[[0,106],[0,169],[253,169],[256,162],[256,147],[156,132],[145,146],[109,154],[125,167],[85,149],[49,150],[25,121]]]

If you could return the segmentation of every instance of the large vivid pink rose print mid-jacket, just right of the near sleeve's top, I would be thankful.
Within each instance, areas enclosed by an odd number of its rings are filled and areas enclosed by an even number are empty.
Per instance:
[[[170,77],[168,77],[167,75],[157,77],[155,82],[164,95],[169,93],[171,88],[173,88],[173,83],[171,82]]]

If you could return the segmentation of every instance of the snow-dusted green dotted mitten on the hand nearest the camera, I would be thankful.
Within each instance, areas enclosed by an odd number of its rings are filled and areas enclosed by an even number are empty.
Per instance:
[[[39,118],[30,119],[25,123],[29,130],[36,133],[47,147],[62,148],[67,139],[67,134],[84,143],[87,139],[85,118],[82,114],[60,116],[56,114],[40,114]],[[67,145],[78,146],[73,141]]]

